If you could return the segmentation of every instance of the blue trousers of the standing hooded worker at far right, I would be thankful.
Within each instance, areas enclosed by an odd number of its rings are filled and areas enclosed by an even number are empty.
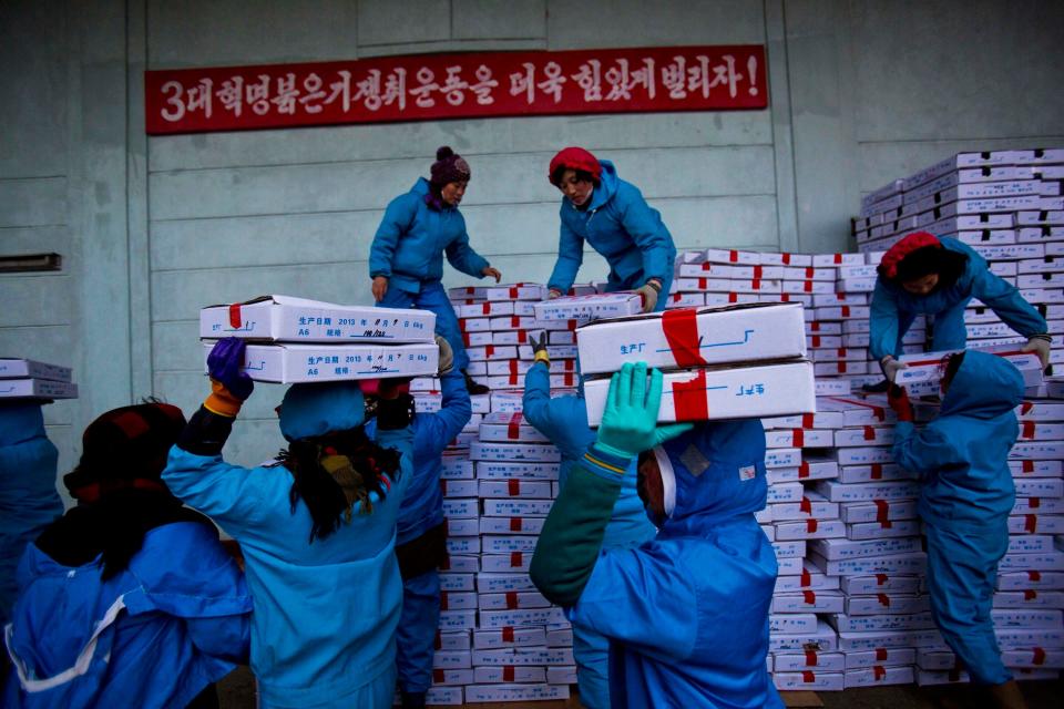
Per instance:
[[[945,644],[973,682],[1009,681],[1012,674],[1001,661],[990,616],[998,562],[1009,548],[1007,520],[992,521],[979,528],[925,526],[931,616]]]

